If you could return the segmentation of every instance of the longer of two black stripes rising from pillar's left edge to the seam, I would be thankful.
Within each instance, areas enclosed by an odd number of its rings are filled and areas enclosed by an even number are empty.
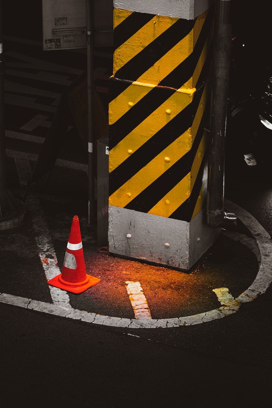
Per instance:
[[[109,126],[109,148],[113,149],[121,140],[148,118],[161,104],[175,93],[175,89],[156,86],[120,119]]]

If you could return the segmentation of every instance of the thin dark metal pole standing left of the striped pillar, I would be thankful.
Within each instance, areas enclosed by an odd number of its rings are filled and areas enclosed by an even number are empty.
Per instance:
[[[95,222],[93,127],[93,0],[86,0],[87,98],[88,98],[88,221]]]

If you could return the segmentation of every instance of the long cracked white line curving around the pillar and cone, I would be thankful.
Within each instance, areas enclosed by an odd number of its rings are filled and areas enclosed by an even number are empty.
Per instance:
[[[268,233],[250,213],[248,213],[246,210],[230,201],[226,200],[225,203],[228,210],[232,210],[232,212],[234,212],[237,215],[237,217],[250,230],[250,232],[256,239],[260,251],[261,262],[259,272],[252,285],[248,289],[246,289],[243,293],[241,293],[241,295],[239,295],[236,299],[226,302],[226,304],[223,304],[223,306],[221,306],[218,309],[210,310],[208,312],[199,313],[197,315],[192,316],[153,320],[153,319],[126,319],[123,317],[104,316],[99,315],[97,313],[87,312],[84,310],[73,309],[71,307],[70,308],[63,307],[60,306],[60,304],[39,302],[37,300],[9,295],[6,293],[0,294],[0,302],[33,309],[44,313],[69,317],[71,319],[80,319],[82,320],[82,322],[127,328],[169,328],[179,326],[191,326],[194,324],[211,322],[212,320],[221,319],[222,317],[236,313],[240,303],[251,302],[259,294],[265,293],[265,290],[271,284],[272,243]],[[230,304],[231,302],[234,301],[237,301],[237,304],[235,305]]]

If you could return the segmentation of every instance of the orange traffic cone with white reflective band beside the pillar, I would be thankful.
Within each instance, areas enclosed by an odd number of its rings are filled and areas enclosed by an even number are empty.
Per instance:
[[[100,282],[100,279],[86,274],[80,223],[77,215],[75,215],[67,243],[62,273],[50,279],[47,283],[68,292],[82,293],[98,282]]]

